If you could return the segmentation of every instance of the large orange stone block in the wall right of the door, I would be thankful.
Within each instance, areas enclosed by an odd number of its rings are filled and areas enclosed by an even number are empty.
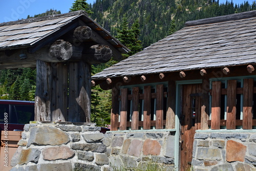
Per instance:
[[[241,161],[244,162],[245,153],[246,153],[246,146],[233,140],[227,141],[226,147],[226,161]]]

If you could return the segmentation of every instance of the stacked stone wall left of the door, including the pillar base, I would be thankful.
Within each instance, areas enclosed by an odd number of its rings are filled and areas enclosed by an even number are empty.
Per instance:
[[[100,133],[94,125],[26,124],[12,171],[145,169],[148,164],[174,170],[174,135]],[[114,169],[113,169],[114,168]]]

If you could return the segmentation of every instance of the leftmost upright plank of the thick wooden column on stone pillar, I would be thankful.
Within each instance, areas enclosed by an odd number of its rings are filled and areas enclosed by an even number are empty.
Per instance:
[[[36,60],[35,120],[52,121],[52,68],[49,62]]]

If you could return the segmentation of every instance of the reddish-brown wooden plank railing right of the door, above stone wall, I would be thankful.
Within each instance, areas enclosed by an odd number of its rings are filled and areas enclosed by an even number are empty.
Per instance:
[[[256,126],[256,120],[252,117],[253,93],[256,93],[256,88],[253,88],[254,81],[253,79],[243,81],[243,88],[237,88],[237,80],[228,80],[227,89],[221,88],[221,81],[212,82],[211,120],[208,121],[211,129],[219,130],[220,126],[226,126],[226,129],[236,129],[236,126],[252,129],[252,126]],[[237,94],[243,94],[243,118],[241,120],[236,119]],[[221,95],[227,95],[226,120],[221,120]]]

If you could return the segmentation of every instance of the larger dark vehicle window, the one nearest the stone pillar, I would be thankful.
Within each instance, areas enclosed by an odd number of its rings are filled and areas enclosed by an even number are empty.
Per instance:
[[[9,123],[26,124],[34,120],[33,105],[11,105],[11,120]]]

